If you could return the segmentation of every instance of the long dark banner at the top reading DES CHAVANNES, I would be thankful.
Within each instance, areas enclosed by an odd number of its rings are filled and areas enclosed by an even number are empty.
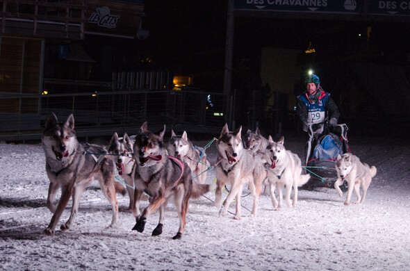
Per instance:
[[[235,9],[361,14],[363,0],[235,0]]]

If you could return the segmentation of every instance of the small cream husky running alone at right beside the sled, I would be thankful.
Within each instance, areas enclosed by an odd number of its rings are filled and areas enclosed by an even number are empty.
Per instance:
[[[342,197],[343,192],[339,186],[347,181],[347,197],[345,205],[349,205],[350,198],[352,197],[352,192],[357,195],[357,201],[354,204],[363,203],[366,200],[366,192],[370,186],[372,178],[376,175],[377,169],[373,165],[369,167],[366,163],[361,163],[359,157],[347,153],[342,156],[339,154],[336,160],[336,172],[338,174],[338,179],[334,183],[334,188],[338,192],[339,197]],[[363,196],[360,196],[360,186],[363,189]]]

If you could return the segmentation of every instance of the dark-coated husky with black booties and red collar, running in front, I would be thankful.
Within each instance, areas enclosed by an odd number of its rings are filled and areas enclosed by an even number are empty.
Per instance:
[[[144,231],[147,218],[159,208],[158,226],[154,229],[152,235],[158,236],[161,234],[165,221],[165,206],[167,200],[173,195],[179,216],[179,229],[173,239],[180,239],[186,225],[189,199],[204,195],[212,187],[207,184],[195,183],[186,163],[178,158],[166,155],[163,142],[164,133],[165,125],[161,131],[151,133],[147,129],[147,122],[145,122],[136,135],[136,142],[133,147],[133,158],[136,159],[133,215],[136,217],[137,222],[133,230]],[[151,197],[151,202],[140,214],[139,202],[142,192],[146,192]]]

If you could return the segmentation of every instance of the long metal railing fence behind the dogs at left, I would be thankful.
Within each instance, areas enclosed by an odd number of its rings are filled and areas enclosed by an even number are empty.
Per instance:
[[[127,76],[121,74],[120,78],[126,79]],[[159,76],[162,84],[165,81],[161,78]],[[157,86],[147,90],[142,85],[143,88],[135,89],[133,81],[130,79],[128,82],[117,87],[124,81],[81,83],[45,80],[47,94],[0,93],[1,108],[13,106],[13,110],[1,110],[0,140],[39,140],[51,112],[60,121],[73,113],[76,133],[80,137],[109,136],[114,131],[133,134],[146,121],[152,131],[165,124],[167,131],[218,134],[225,123],[226,98],[222,94],[195,89],[157,90]]]

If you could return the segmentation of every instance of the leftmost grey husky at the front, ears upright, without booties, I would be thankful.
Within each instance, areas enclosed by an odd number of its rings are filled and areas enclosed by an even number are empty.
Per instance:
[[[104,155],[85,155],[85,147],[79,144],[74,131],[74,117],[69,115],[65,123],[58,122],[54,113],[48,118],[42,134],[42,147],[46,156],[46,171],[50,179],[47,208],[54,213],[49,227],[44,230],[48,236],[54,235],[54,229],[65,206],[72,197],[72,210],[69,219],[61,225],[61,230],[69,229],[78,213],[81,194],[94,180],[113,208],[111,226],[118,220],[118,202],[115,192],[125,192],[124,187],[114,181],[114,163]],[[106,149],[99,145],[90,145],[88,151],[105,153]],[[58,189],[61,197],[58,206],[54,205]]]

